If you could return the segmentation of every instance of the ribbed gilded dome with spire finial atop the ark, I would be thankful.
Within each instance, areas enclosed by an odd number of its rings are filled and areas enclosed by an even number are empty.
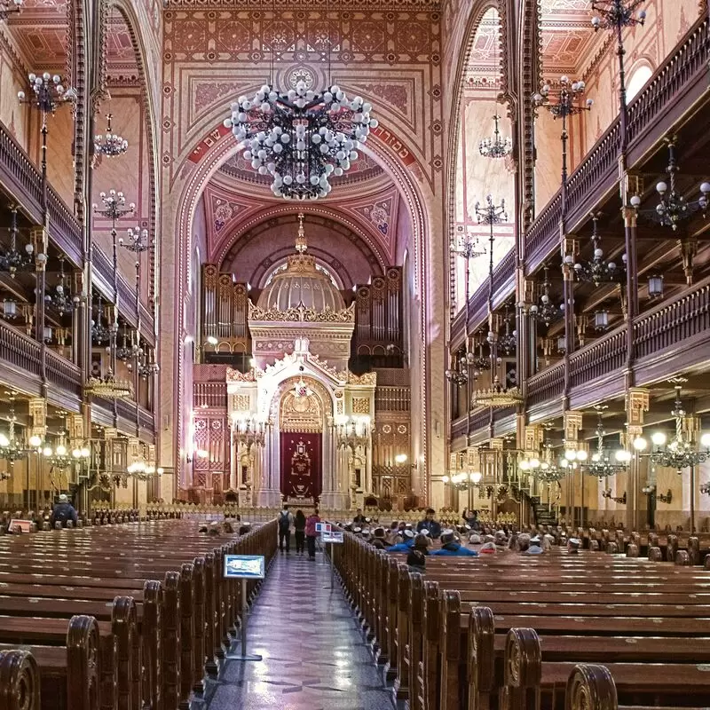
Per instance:
[[[314,256],[305,253],[304,216],[298,216],[296,254],[288,256],[286,269],[274,274],[259,296],[257,307],[265,311],[288,311],[305,308],[317,313],[343,311],[340,291],[316,268]]]

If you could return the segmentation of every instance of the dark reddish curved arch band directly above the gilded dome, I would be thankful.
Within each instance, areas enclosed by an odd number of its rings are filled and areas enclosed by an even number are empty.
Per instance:
[[[271,209],[252,217],[244,224],[240,225],[238,232],[230,234],[229,241],[225,243],[217,258],[217,264],[220,269],[226,264],[232,264],[234,259],[239,256],[241,250],[246,248],[249,242],[264,233],[268,229],[275,226],[296,224],[294,217],[297,212],[292,205],[274,205]],[[308,223],[321,226],[327,226],[333,232],[336,232],[348,241],[351,241],[359,252],[365,256],[368,264],[372,264],[374,269],[379,269],[377,275],[383,275],[387,269],[387,262],[375,243],[368,238],[363,230],[346,217],[335,214],[332,209],[327,209],[327,206],[319,208],[315,205],[309,205],[303,210],[307,217]],[[296,234],[296,231],[294,231]],[[342,274],[345,279],[350,280],[344,266],[338,267],[337,272]],[[261,280],[263,272],[255,274],[255,280],[252,283],[257,283]],[[343,279],[344,280],[344,279]]]

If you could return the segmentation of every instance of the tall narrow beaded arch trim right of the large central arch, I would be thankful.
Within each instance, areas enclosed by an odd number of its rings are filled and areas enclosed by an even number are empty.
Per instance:
[[[511,121],[515,122],[516,118],[516,99],[514,91],[511,91],[510,83],[510,62],[509,62],[509,45],[510,37],[514,33],[509,28],[510,13],[508,12],[508,0],[483,0],[474,4],[469,12],[469,20],[466,24],[464,37],[466,38],[466,50],[459,55],[459,61],[456,65],[454,75],[454,101],[452,102],[451,115],[448,136],[448,154],[451,160],[448,166],[447,181],[448,185],[446,192],[448,194],[448,209],[446,212],[446,233],[448,241],[446,242],[446,256],[449,260],[449,318],[454,319],[455,304],[456,304],[456,256],[448,248],[448,244],[454,239],[454,215],[456,214],[456,169],[458,167],[458,142],[459,130],[461,128],[461,101],[463,99],[463,78],[466,72],[466,67],[469,63],[473,43],[476,39],[476,33],[481,25],[483,16],[492,7],[498,11],[499,22],[501,25],[501,38],[498,44],[499,50],[499,72],[501,75],[501,92],[497,99],[500,103],[507,107],[508,115]],[[515,148],[515,146],[514,146]],[[517,148],[515,148],[517,150]],[[517,154],[517,153],[516,153]]]

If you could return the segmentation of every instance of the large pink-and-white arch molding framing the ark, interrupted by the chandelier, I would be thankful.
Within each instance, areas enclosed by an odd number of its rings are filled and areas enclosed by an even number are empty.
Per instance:
[[[382,123],[380,124],[382,125]],[[200,140],[195,140],[192,149],[188,154],[191,154],[199,145]],[[185,315],[185,299],[183,298],[183,289],[186,283],[187,266],[191,255],[191,234],[195,210],[200,201],[201,194],[204,191],[205,185],[209,178],[217,171],[222,162],[225,162],[227,156],[234,151],[234,138],[228,133],[222,138],[215,141],[209,150],[202,157],[196,170],[193,170],[189,177],[185,180],[185,184],[178,194],[174,196],[174,204],[177,205],[175,210],[174,233],[177,235],[176,240],[176,258],[175,258],[175,283],[177,284],[176,307],[173,309],[173,330],[177,338],[182,333],[182,324]],[[422,369],[419,373],[419,382],[421,383],[420,397],[422,398],[422,422],[421,422],[421,443],[422,443],[422,467],[428,469],[428,451],[429,451],[429,421],[430,421],[430,406],[428,404],[427,384],[429,383],[429,342],[427,326],[430,320],[428,312],[429,302],[425,300],[424,294],[426,291],[426,274],[428,272],[428,251],[427,243],[434,240],[430,236],[430,220],[424,210],[424,199],[422,191],[414,182],[411,176],[411,167],[407,168],[398,157],[390,152],[388,146],[376,138],[372,138],[367,142],[365,152],[371,155],[384,170],[388,172],[392,181],[398,186],[399,193],[404,202],[405,209],[408,210],[411,218],[411,241],[412,241],[412,256],[414,258],[414,292],[420,295],[421,307],[419,313],[419,329],[421,340],[419,346],[422,349]],[[170,229],[168,230],[170,233]],[[173,372],[171,385],[174,392],[175,410],[182,411],[183,393],[178,383],[184,381],[185,377],[185,349],[176,347],[176,367]],[[169,381],[170,382],[170,381]],[[176,417],[176,427],[174,432],[173,445],[177,448],[180,446],[182,439],[182,421],[180,417]],[[425,498],[429,496],[428,480],[425,477],[422,482],[422,493]]]

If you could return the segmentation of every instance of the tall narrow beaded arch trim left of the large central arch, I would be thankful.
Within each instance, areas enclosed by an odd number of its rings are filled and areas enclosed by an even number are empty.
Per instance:
[[[123,21],[126,23],[126,28],[130,35],[130,43],[133,46],[133,51],[136,55],[136,64],[138,66],[138,82],[140,83],[140,100],[143,106],[143,112],[146,116],[144,128],[146,130],[146,145],[148,148],[148,184],[150,193],[150,209],[148,214],[148,232],[157,237],[157,200],[158,200],[158,185],[157,185],[157,149],[155,146],[155,107],[153,106],[152,93],[149,91],[148,79],[146,72],[146,47],[143,41],[143,36],[136,28],[140,27],[138,16],[136,15],[133,6],[126,0],[102,0],[99,5],[99,56],[98,56],[98,75],[97,91],[95,92],[95,100],[93,105],[89,107],[92,116],[99,111],[101,100],[106,99],[108,90],[106,88],[106,35],[108,31],[108,16],[111,8],[115,8],[120,12]],[[156,238],[157,249],[151,249],[150,254],[150,290],[149,296],[153,302],[155,296],[155,262],[156,251],[160,249],[160,242]]]

